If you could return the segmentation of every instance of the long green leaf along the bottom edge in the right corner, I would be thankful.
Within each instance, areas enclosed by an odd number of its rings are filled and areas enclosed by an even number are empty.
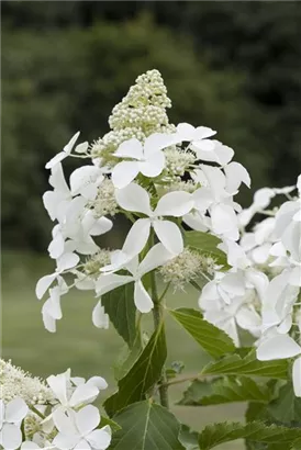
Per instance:
[[[205,427],[199,437],[201,450],[210,450],[224,442],[236,439],[248,439],[255,442],[266,442],[269,445],[292,445],[301,437],[301,429],[286,428],[282,426],[266,426],[260,421],[253,421],[244,425],[239,423],[214,424]]]

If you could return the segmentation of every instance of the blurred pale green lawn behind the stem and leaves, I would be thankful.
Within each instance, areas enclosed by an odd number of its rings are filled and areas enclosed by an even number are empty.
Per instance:
[[[91,293],[73,291],[63,299],[64,318],[58,323],[55,335],[47,333],[41,318],[41,306],[35,299],[36,280],[53,271],[52,262],[43,257],[27,254],[2,254],[1,270],[1,357],[12,359],[14,364],[33,374],[45,376],[73,368],[75,375],[104,376],[110,389],[114,390],[113,364],[118,355],[124,350],[122,339],[113,327],[99,330],[91,324],[91,311],[96,300]],[[187,291],[185,294],[171,294],[169,306],[197,305],[198,293]],[[150,317],[145,320],[149,331]],[[182,360],[188,373],[196,373],[208,357],[200,347],[191,341],[179,326],[168,320],[167,341],[169,363]],[[170,390],[174,403],[180,397],[185,385]],[[182,421],[196,429],[210,421],[242,420],[244,405],[219,407],[179,407],[174,412]],[[242,450],[239,442],[219,447],[223,450]],[[218,449],[218,448],[216,448]]]

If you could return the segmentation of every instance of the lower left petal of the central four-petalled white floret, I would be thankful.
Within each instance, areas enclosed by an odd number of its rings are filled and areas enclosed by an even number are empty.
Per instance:
[[[122,251],[131,257],[138,255],[147,243],[149,230],[149,218],[140,218],[135,222],[125,238]]]

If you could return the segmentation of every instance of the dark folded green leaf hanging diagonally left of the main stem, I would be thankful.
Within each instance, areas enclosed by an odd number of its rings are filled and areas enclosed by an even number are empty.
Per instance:
[[[145,394],[159,380],[166,360],[166,340],[164,325],[150,337],[140,358],[123,376],[118,385],[119,391],[104,402],[109,416],[131,403],[145,400]]]

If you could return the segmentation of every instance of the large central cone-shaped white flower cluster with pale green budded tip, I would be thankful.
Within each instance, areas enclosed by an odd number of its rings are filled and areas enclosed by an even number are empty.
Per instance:
[[[113,145],[104,136],[89,150],[88,143],[76,146],[77,133],[46,165],[53,190],[43,200],[56,221],[48,247],[56,270],[37,282],[36,295],[48,293],[42,314],[49,331],[56,330],[63,316],[60,297],[70,288],[94,291],[99,300],[92,322],[108,328],[101,296],[119,286],[132,283],[136,308],[148,313],[154,307],[145,282],[149,273],[161,274],[176,289],[200,272],[211,280],[214,258],[187,247],[188,228],[218,236],[228,263],[242,269],[241,206],[233,199],[242,183],[249,187],[248,172],[233,161],[232,148],[212,138],[215,131],[188,123],[168,125],[169,106],[159,72],[148,71],[113,109],[110,133],[119,136]],[[62,167],[67,156],[91,159],[71,173],[69,183]],[[132,227],[121,248],[102,249],[98,236],[111,230],[118,213]],[[259,289],[253,280],[256,273],[237,277],[245,279],[244,294],[252,297]]]

